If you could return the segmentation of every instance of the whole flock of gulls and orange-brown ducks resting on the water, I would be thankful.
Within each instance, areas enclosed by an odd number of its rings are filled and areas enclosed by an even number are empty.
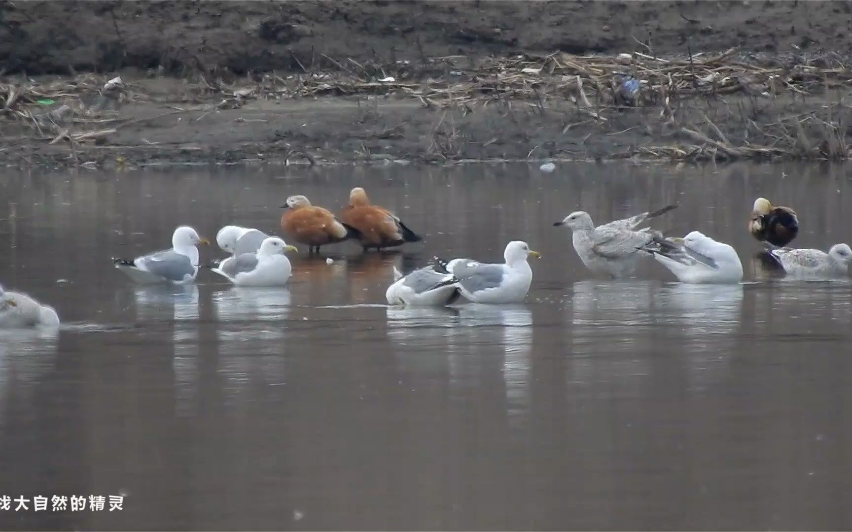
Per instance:
[[[666,237],[650,227],[648,220],[676,209],[679,203],[595,226],[591,216],[576,211],[557,221],[573,232],[573,247],[583,264],[596,274],[613,279],[630,277],[642,257],[653,256],[682,283],[740,283],[743,266],[734,248],[693,231],[685,237]],[[296,243],[308,246],[308,254],[319,254],[322,246],[354,240],[364,252],[419,242],[400,217],[370,203],[363,188],[352,189],[349,203],[339,215],[313,205],[307,197],[291,196],[282,208],[281,230]],[[749,232],[763,243],[763,256],[786,275],[798,278],[828,279],[848,276],[852,249],[845,243],[820,249],[787,247],[797,236],[798,218],[788,207],[776,207],[757,198],[749,220]],[[199,264],[199,244],[209,242],[189,226],[176,228],[172,247],[133,260],[113,258],[113,264],[136,283],[194,283],[201,268],[241,286],[280,286],[291,277],[291,263],[285,253],[297,251],[281,237],[254,228],[224,226],[216,243],[230,254],[213,265]],[[504,262],[489,264],[477,260],[434,257],[431,263],[402,275],[394,267],[394,283],[385,293],[389,305],[446,306],[460,297],[476,303],[520,303],[533,282],[530,257],[538,252],[526,242],[506,245]],[[331,263],[331,259],[326,259]],[[31,297],[4,292],[0,287],[0,328],[37,325],[58,326],[59,317],[50,306]]]

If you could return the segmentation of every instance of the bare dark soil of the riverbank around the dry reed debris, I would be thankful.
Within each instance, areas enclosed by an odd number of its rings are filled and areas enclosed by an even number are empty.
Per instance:
[[[314,159],[613,157],[671,142],[655,109],[615,113],[606,124],[575,107],[498,106],[441,112],[394,96],[251,100],[216,109],[221,96],[188,102],[180,81],[339,70],[348,58],[389,65],[426,58],[513,54],[852,53],[849,2],[2,2],[5,78],[121,73],[150,96],[124,104],[139,118],[101,144],[72,152],[3,126],[0,163],[281,161]],[[641,44],[641,43],[643,44]],[[846,94],[837,94],[843,99]],[[757,102],[745,95],[695,104],[729,139],[743,124],[819,109],[824,96]],[[734,109],[734,111],[731,111]],[[181,112],[175,112],[182,110]],[[175,112],[174,114],[166,114]],[[734,115],[738,115],[734,120]],[[727,124],[727,125],[726,125]]]

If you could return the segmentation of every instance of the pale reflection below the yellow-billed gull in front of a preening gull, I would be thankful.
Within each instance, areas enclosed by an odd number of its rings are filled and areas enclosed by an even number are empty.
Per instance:
[[[285,338],[291,294],[283,287],[233,287],[213,294],[219,327],[219,372],[226,397],[247,386],[285,382]]]

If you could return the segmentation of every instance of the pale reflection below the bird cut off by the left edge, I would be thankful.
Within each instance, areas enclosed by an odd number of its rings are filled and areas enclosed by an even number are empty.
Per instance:
[[[59,335],[55,329],[0,329],[0,426],[7,403],[21,403],[54,368]]]

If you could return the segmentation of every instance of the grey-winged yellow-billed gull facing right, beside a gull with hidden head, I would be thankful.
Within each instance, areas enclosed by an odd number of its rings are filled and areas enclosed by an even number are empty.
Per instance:
[[[521,303],[533,283],[533,269],[527,259],[540,257],[526,242],[506,244],[504,264],[483,264],[470,259],[449,262],[435,257],[436,267],[458,278],[462,295],[475,303]]]

